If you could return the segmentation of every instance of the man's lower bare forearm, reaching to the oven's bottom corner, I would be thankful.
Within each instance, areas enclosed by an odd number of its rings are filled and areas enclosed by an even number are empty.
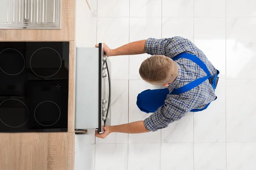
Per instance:
[[[143,121],[132,122],[123,125],[111,126],[111,132],[119,133],[146,133],[150,132],[144,126]]]

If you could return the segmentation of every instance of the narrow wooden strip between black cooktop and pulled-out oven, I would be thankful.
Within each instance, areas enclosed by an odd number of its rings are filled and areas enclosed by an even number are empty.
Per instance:
[[[70,41],[68,85],[68,132],[75,132],[76,42]]]

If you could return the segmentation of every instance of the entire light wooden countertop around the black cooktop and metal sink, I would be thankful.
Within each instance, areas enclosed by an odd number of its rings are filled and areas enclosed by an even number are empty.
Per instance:
[[[1,30],[0,41],[70,41],[67,133],[0,133],[0,170],[73,170],[76,1],[62,0],[61,30]]]

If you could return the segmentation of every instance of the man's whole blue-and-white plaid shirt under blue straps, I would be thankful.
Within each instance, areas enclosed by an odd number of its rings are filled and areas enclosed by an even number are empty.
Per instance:
[[[217,74],[214,66],[205,54],[191,41],[182,37],[165,39],[149,38],[145,43],[146,53],[151,55],[165,55],[173,58],[181,53],[190,53],[200,58],[206,65],[211,75]],[[178,76],[169,84],[169,91],[180,88],[200,77],[207,76],[203,69],[189,59],[180,58],[175,61],[179,69]],[[165,105],[144,120],[144,126],[150,131],[167,127],[170,123],[181,119],[192,109],[204,108],[209,102],[215,100],[215,93],[208,80],[201,85],[183,94],[168,94]]]

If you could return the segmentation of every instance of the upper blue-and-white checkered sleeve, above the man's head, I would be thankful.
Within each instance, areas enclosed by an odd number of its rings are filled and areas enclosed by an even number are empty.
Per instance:
[[[145,51],[151,55],[164,55],[173,58],[184,52],[198,55],[198,50],[193,42],[182,37],[148,38],[145,42]]]

